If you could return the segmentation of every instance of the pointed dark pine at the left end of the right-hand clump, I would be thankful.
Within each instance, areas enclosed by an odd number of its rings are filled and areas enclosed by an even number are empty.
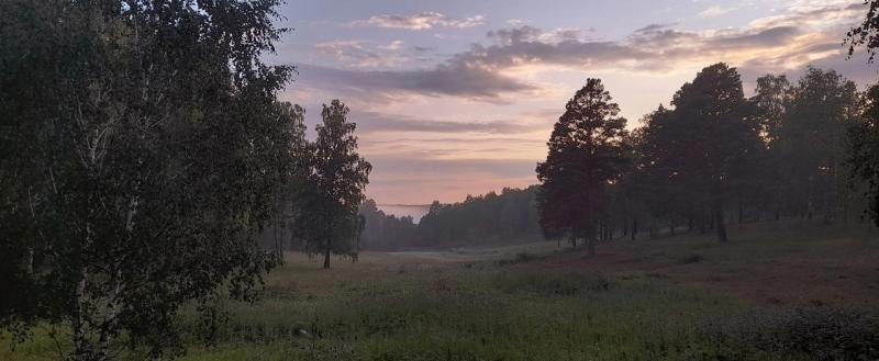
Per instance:
[[[565,106],[547,143],[546,161],[537,165],[542,183],[537,204],[541,225],[585,238],[594,255],[608,187],[623,170],[625,119],[599,79],[588,79]]]

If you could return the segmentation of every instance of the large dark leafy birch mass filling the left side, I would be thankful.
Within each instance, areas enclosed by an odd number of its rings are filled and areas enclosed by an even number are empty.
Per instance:
[[[173,357],[182,304],[253,297],[301,140],[279,2],[0,2],[3,326]]]

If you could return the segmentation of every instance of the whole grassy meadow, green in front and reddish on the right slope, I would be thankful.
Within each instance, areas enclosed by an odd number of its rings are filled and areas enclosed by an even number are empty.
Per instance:
[[[782,222],[614,240],[301,255],[185,360],[876,360],[879,236]],[[564,246],[564,245],[563,245]],[[194,329],[187,313],[180,327]],[[0,359],[45,360],[37,337]]]

